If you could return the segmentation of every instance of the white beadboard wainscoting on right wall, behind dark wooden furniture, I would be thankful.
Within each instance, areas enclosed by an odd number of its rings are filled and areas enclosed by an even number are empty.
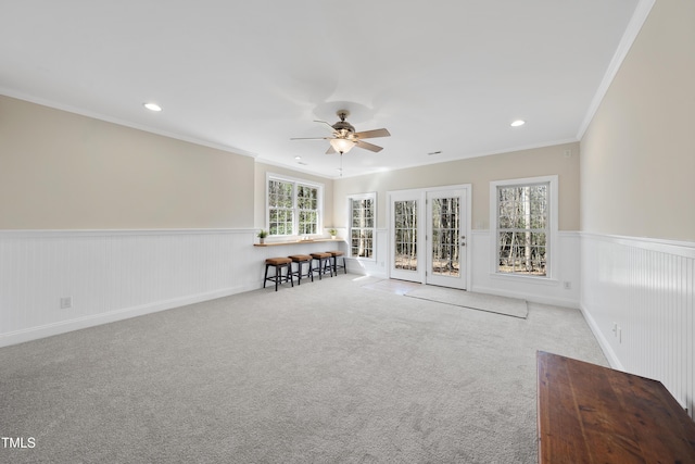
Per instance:
[[[581,309],[611,365],[695,418],[695,243],[582,234]]]

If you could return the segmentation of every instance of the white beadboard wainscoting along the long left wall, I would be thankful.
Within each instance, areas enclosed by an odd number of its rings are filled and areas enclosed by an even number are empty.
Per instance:
[[[0,231],[0,346],[260,288],[268,249],[254,238],[252,229]],[[61,309],[64,297],[72,308]]]

